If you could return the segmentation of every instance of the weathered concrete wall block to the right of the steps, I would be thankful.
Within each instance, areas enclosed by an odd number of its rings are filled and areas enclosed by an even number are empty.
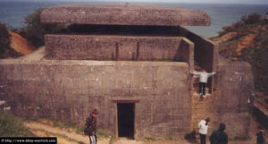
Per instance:
[[[215,76],[217,94],[214,109],[219,123],[226,123],[230,138],[248,136],[250,115],[253,106],[254,81],[250,64],[223,62]]]

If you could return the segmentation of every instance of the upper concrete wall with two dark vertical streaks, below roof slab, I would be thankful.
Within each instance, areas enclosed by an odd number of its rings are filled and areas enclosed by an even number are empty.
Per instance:
[[[118,57],[118,60],[133,61],[138,52],[140,61],[180,60],[180,37],[46,35],[45,38],[48,59],[115,60]]]

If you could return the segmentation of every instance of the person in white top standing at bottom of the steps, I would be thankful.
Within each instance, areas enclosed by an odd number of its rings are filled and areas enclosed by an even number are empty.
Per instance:
[[[210,118],[207,117],[205,120],[201,120],[197,126],[199,128],[199,134],[200,134],[200,144],[205,144],[205,137],[208,130],[208,123],[210,122]]]

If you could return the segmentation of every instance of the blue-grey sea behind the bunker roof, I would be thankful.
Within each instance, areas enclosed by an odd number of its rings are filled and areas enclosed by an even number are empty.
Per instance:
[[[124,2],[105,1],[64,1],[64,0],[0,0],[0,21],[8,27],[21,29],[25,26],[24,18],[39,7],[49,7],[62,4],[123,4]],[[208,13],[212,19],[210,26],[184,26],[205,38],[218,36],[223,26],[239,21],[243,15],[258,13],[263,17],[268,13],[268,4],[197,4],[197,3],[135,3],[129,4],[157,4],[166,6],[186,7]],[[1,32],[1,31],[0,31]]]

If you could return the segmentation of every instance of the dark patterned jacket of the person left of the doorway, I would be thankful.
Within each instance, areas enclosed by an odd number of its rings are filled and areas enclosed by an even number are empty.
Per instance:
[[[90,114],[86,120],[84,134],[88,136],[96,135],[96,117]]]

